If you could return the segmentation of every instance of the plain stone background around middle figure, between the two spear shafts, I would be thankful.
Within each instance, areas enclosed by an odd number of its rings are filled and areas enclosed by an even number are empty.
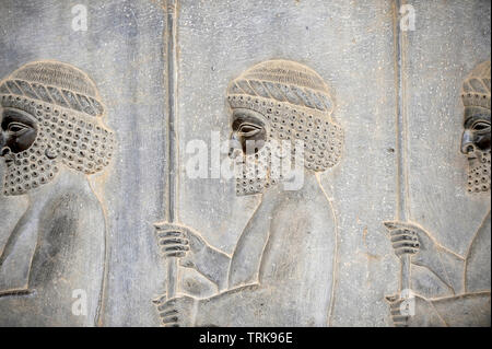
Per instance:
[[[197,150],[190,147],[187,152],[186,146],[203,140],[209,144],[209,165],[224,163],[229,151],[222,149],[216,156],[213,149],[232,132],[231,105],[225,98],[227,89],[234,88],[231,82],[270,60],[308,67],[328,85],[332,116],[344,133],[341,161],[317,175],[333,212],[325,212],[323,206],[315,212],[327,214],[323,221],[335,217],[338,228],[333,304],[325,310],[325,326],[393,325],[384,296],[398,288],[399,264],[382,224],[382,218],[393,218],[396,211],[393,2],[364,1],[356,7],[338,1],[180,4],[179,221],[199,231],[211,246],[234,254],[261,197],[237,196],[235,177],[220,173],[209,171],[203,177],[190,178],[187,161]],[[201,83],[197,86],[196,81]],[[255,89],[249,82],[247,86]],[[268,85],[261,86],[271,95]],[[330,258],[327,255],[325,263]],[[180,272],[180,290],[189,295],[186,280],[200,277],[189,268]],[[194,296],[208,298],[210,292]]]

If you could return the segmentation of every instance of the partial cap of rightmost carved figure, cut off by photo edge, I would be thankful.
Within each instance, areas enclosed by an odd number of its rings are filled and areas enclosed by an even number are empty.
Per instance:
[[[478,65],[462,83],[462,104],[490,109],[490,60]]]

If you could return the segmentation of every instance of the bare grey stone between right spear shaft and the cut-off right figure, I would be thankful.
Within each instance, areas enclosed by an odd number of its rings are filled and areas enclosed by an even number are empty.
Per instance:
[[[421,13],[422,28],[407,32],[402,42],[408,216],[464,256],[490,210],[490,193],[469,195],[469,164],[461,153],[467,104],[461,95],[468,89],[464,82],[476,67],[490,61],[490,5],[472,1],[440,11],[445,2],[410,3]]]

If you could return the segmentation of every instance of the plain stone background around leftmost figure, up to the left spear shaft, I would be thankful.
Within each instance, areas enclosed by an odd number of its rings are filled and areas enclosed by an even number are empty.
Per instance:
[[[26,62],[54,59],[82,69],[95,82],[106,106],[105,124],[114,130],[118,144],[110,166],[102,175],[89,177],[106,219],[107,280],[101,322],[159,325],[151,300],[165,278],[165,268],[152,223],[162,219],[166,182],[162,175],[166,162],[165,14],[151,1],[96,1],[87,7],[87,31],[74,32],[71,10],[75,4],[2,2],[0,74],[3,79]],[[17,25],[21,20],[25,25]],[[23,196],[2,196],[2,242],[25,211],[25,200]],[[36,236],[30,237],[32,245]],[[2,281],[2,286],[25,286],[25,276],[16,275],[31,256],[22,249],[15,253],[14,270],[2,272],[2,280],[5,277],[9,284]],[[84,265],[80,268],[85,269]],[[15,272],[15,278],[10,272]],[[71,314],[77,299],[69,296],[69,304],[58,304],[54,299],[54,305]],[[15,324],[9,311],[0,312],[1,323]],[[22,318],[38,325],[66,325],[34,315],[26,310]],[[38,315],[50,316],[49,312]],[[78,317],[74,319],[77,324]],[[87,325],[93,323],[94,318],[86,319]]]

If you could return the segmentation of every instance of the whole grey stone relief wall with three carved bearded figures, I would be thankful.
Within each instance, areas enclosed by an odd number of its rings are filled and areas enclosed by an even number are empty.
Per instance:
[[[60,173],[0,197],[0,325],[490,326],[488,1],[94,1],[86,31],[75,4],[0,5],[1,155],[27,142],[3,112],[32,101],[23,81],[84,110],[89,93],[115,135],[101,171],[43,148]],[[35,61],[63,63],[12,74]],[[481,88],[462,91],[473,69]],[[301,138],[303,185],[274,183],[271,164],[254,187],[224,177],[231,133]],[[254,161],[276,156],[267,144]]]

